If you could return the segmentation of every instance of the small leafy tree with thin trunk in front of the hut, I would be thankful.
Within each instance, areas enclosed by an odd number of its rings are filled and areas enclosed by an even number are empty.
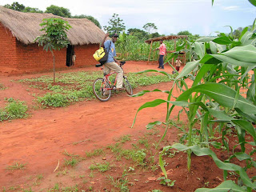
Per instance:
[[[44,18],[40,26],[43,26],[41,31],[45,31],[45,34],[38,36],[34,41],[38,41],[38,46],[43,46],[43,50],[50,50],[53,55],[55,83],[55,56],[53,50],[61,50],[68,46],[70,41],[67,38],[66,31],[71,26],[61,18]]]

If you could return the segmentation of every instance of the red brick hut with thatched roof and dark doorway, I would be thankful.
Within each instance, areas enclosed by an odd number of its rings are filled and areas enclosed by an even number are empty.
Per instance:
[[[34,39],[43,34],[43,18],[61,18],[54,14],[22,13],[0,6],[0,73],[22,74],[53,68],[53,57]],[[56,69],[69,66],[91,66],[92,55],[98,50],[105,33],[86,18],[62,18],[69,22],[70,45],[54,51]],[[76,55],[72,62],[72,56]]]

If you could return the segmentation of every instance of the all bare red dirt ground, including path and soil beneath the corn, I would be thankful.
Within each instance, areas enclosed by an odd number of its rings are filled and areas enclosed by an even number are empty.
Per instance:
[[[147,65],[146,62],[126,62],[124,70],[126,72],[138,72],[147,69],[157,69],[156,65]],[[99,70],[94,66],[65,70],[58,73],[78,70]],[[166,66],[166,72],[171,73],[170,66]],[[48,73],[51,74],[51,73]],[[30,106],[34,100],[31,95],[32,88],[18,82],[11,82],[13,79],[32,78],[42,74],[24,74],[19,76],[1,76],[1,84],[8,87],[6,90],[0,90],[0,106],[4,106],[4,98],[15,98],[26,101]],[[161,83],[154,86],[140,87],[134,90],[137,93],[141,90],[170,90],[172,82]],[[38,93],[40,91],[38,90]],[[34,90],[33,90],[34,93]],[[178,95],[178,93],[174,93]],[[27,186],[32,187],[33,191],[48,191],[54,187],[55,183],[62,183],[66,186],[74,186],[78,183],[80,186],[93,185],[95,191],[111,190],[110,184],[106,182],[106,176],[97,174],[94,178],[88,178],[87,175],[89,164],[83,163],[70,170],[78,171],[79,175],[86,174],[90,183],[83,184],[78,178],[60,178],[56,177],[54,169],[60,160],[63,165],[66,157],[62,152],[64,150],[71,154],[84,155],[85,151],[94,150],[102,146],[114,143],[114,138],[130,134],[134,138],[142,136],[146,132],[146,125],[149,122],[165,120],[166,106],[163,104],[154,108],[141,110],[133,129],[130,128],[138,108],[143,103],[153,101],[156,98],[166,99],[167,94],[149,93],[142,97],[130,98],[125,93],[114,95],[108,102],[99,102],[97,99],[91,101],[78,102],[65,108],[32,110],[31,117],[26,119],[17,119],[10,122],[1,122],[0,124],[0,186],[1,190],[5,187],[20,191]],[[171,118],[178,114],[175,110]],[[186,122],[186,119],[183,121]],[[167,134],[167,145],[177,141],[177,129],[172,129]],[[159,138],[155,138],[159,139]],[[79,142],[74,145],[74,142]],[[111,158],[111,157],[106,157]],[[158,158],[158,157],[156,157]],[[97,158],[95,158],[97,159]],[[94,160],[95,160],[94,159]],[[171,158],[166,170],[170,170],[171,178],[176,180],[174,188],[161,186],[159,181],[150,181],[150,177],[158,178],[161,170],[156,172],[143,172],[138,174],[138,182],[130,186],[130,191],[150,191],[159,189],[162,191],[194,191],[197,187],[218,186],[222,182],[222,170],[218,170],[214,162],[206,158],[193,156],[192,171],[186,170],[186,154],[179,153],[175,158]],[[14,162],[26,164],[26,170],[6,170],[6,166]],[[112,170],[113,174],[118,174],[120,169]],[[115,172],[116,171],[116,172]],[[38,174],[43,175],[40,185],[37,185],[35,178]],[[75,174],[75,172],[74,172]],[[122,170],[121,170],[122,174]],[[78,176],[77,176],[78,177]],[[153,179],[154,180],[154,179]],[[137,180],[135,180],[137,181]],[[207,183],[210,182],[210,183]],[[28,184],[29,183],[29,184]],[[33,185],[33,183],[36,183]],[[14,187],[15,186],[15,187]],[[107,188],[107,190],[106,190]],[[105,189],[105,190],[104,190]],[[83,189],[84,191],[87,191]],[[82,187],[80,190],[82,191]]]

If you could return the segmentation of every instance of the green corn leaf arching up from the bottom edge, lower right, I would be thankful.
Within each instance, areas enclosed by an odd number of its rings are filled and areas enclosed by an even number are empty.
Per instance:
[[[229,192],[230,190],[234,192],[245,192],[242,187],[238,186],[231,180],[222,182],[222,184],[213,189],[200,188],[195,190],[194,192]]]

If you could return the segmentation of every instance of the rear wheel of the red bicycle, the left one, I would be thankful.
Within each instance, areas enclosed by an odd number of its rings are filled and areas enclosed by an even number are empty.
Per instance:
[[[110,99],[111,90],[110,84],[108,82],[104,82],[103,78],[97,78],[93,84],[94,95],[98,100],[102,102],[106,102]]]

